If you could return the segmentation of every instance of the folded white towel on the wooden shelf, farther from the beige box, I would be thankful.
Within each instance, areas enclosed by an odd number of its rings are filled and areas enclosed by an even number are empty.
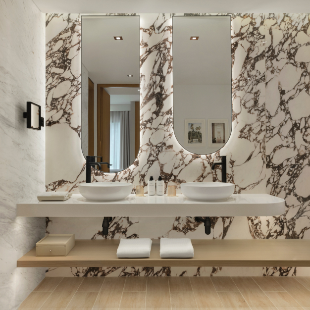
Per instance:
[[[194,248],[189,238],[161,238],[161,258],[193,258]]]

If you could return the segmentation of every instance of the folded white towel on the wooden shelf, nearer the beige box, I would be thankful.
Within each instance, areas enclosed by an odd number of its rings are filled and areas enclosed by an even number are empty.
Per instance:
[[[150,238],[121,239],[116,255],[118,258],[148,258],[151,246]]]

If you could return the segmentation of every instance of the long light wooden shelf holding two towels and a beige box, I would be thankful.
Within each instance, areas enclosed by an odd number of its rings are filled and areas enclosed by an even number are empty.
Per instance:
[[[36,249],[17,267],[102,266],[310,266],[310,240],[192,240],[194,258],[160,258],[153,240],[150,258],[117,258],[119,240],[76,240],[66,257],[37,257]]]

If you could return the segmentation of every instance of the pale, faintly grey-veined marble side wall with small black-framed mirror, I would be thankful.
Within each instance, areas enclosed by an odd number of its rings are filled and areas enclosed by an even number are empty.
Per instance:
[[[44,268],[16,268],[45,235],[44,218],[16,217],[16,203],[45,191],[45,127],[26,128],[26,102],[45,114],[45,18],[32,0],[0,1],[0,308],[13,310]]]

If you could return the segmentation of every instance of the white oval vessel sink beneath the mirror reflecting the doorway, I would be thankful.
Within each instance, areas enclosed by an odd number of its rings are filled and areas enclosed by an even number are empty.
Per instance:
[[[81,183],[80,194],[91,201],[116,201],[122,200],[132,192],[131,183],[120,182],[96,182]]]

